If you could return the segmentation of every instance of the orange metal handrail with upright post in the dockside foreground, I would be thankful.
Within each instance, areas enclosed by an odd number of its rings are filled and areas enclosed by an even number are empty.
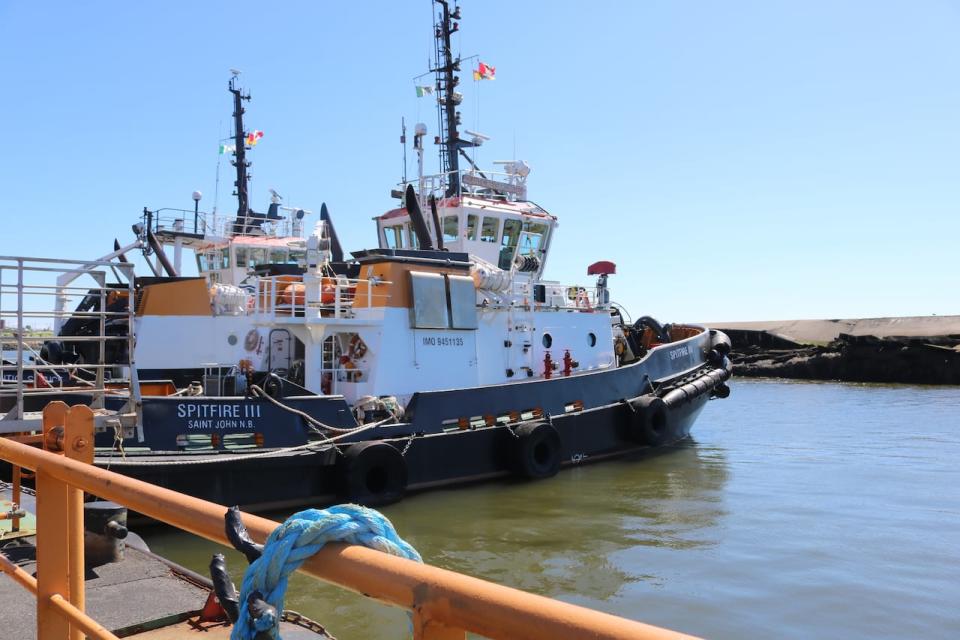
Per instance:
[[[2,554],[0,570],[37,595],[39,640],[115,637],[83,613],[83,491],[230,545],[224,506],[85,463],[92,461],[92,415],[87,407],[62,402],[44,409],[44,441],[59,443],[66,455],[0,438],[0,459],[36,472],[38,579]],[[251,514],[243,514],[243,521],[258,542],[279,525]],[[411,611],[416,640],[462,640],[468,631],[488,638],[561,640],[690,637],[361,546],[327,545],[300,571]]]

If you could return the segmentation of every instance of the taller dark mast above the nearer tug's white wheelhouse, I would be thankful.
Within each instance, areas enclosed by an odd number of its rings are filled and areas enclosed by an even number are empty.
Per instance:
[[[431,71],[437,76],[437,115],[439,120],[440,140],[440,167],[443,173],[449,176],[447,180],[447,196],[460,193],[460,159],[459,155],[466,153],[464,147],[474,146],[472,143],[461,140],[457,126],[460,124],[460,112],[457,106],[463,96],[457,93],[456,87],[460,84],[460,77],[455,71],[460,71],[460,58],[453,57],[450,46],[451,34],[460,30],[460,7],[454,6],[450,11],[449,0],[433,0],[440,5],[437,12],[438,21],[434,24],[434,38],[436,40],[436,64]],[[469,161],[469,158],[467,158]]]

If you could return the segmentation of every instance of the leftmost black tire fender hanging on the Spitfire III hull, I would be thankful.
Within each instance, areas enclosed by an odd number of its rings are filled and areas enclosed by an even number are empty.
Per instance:
[[[407,489],[407,463],[383,440],[351,446],[338,461],[336,473],[340,498],[349,502],[388,504]]]

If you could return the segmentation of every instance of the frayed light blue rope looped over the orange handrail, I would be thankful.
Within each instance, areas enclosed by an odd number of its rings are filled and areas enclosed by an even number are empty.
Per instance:
[[[243,575],[240,615],[230,633],[230,640],[253,640],[262,632],[279,640],[288,577],[328,542],[359,544],[423,562],[416,549],[401,539],[390,521],[374,509],[342,504],[295,513],[273,530],[263,554]],[[259,591],[268,604],[276,607],[276,615],[270,612],[260,618],[251,617],[247,600],[254,591]]]

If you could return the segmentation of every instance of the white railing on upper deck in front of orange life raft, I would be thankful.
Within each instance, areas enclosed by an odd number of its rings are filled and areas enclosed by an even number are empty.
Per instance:
[[[385,280],[341,276],[269,276],[257,279],[253,313],[304,318],[354,317],[357,295],[366,307],[381,306],[390,298]],[[361,286],[362,285],[362,286]],[[360,291],[358,294],[357,292]],[[382,291],[382,292],[381,292]],[[378,303],[375,305],[375,303]]]

